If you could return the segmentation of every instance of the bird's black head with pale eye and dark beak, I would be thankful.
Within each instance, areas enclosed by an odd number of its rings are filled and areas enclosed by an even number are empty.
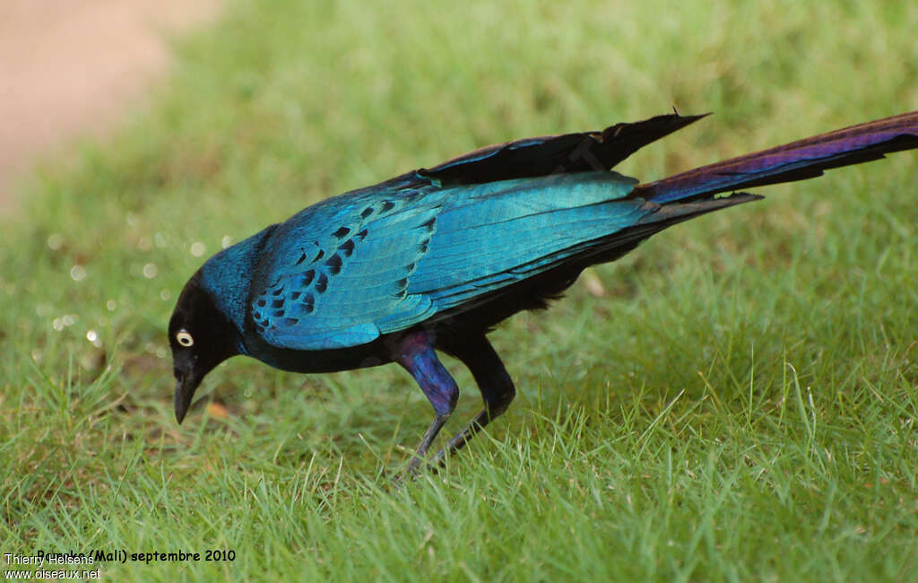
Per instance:
[[[215,366],[239,353],[239,332],[200,286],[200,272],[182,290],[169,320],[169,345],[173,351],[175,419],[185,412],[201,380]]]

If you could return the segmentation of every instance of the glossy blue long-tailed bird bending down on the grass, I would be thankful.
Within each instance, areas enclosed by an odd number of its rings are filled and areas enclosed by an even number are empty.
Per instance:
[[[176,420],[232,356],[295,373],[396,363],[433,409],[405,475],[437,468],[516,395],[487,339],[502,320],[545,308],[585,268],[661,230],[762,198],[744,189],[918,148],[913,111],[654,182],[611,170],[706,115],[674,108],[487,146],[327,198],[216,253],[187,281],[169,320]],[[459,398],[438,353],[465,364],[483,407],[428,460]]]

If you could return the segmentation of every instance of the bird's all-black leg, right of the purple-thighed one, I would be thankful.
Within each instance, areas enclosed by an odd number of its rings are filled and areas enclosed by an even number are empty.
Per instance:
[[[475,437],[477,432],[480,432],[490,421],[497,419],[507,410],[510,402],[516,396],[513,380],[507,373],[507,369],[504,368],[504,364],[500,362],[498,353],[494,352],[494,347],[484,335],[474,342],[465,342],[453,348],[449,352],[461,360],[475,377],[475,382],[481,390],[481,398],[485,401],[485,407],[473,420],[469,421],[465,429],[453,435],[450,443],[433,457],[432,465],[435,467],[442,465],[447,455],[461,450],[469,440]]]

